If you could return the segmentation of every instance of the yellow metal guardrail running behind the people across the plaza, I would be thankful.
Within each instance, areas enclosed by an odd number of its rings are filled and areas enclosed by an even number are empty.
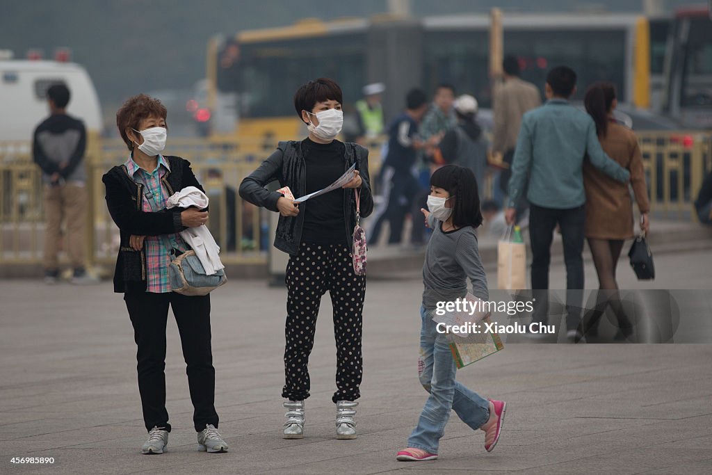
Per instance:
[[[712,134],[639,132],[651,208],[667,219],[695,220],[692,202],[701,182],[712,171]],[[222,247],[227,264],[266,263],[271,246],[269,213],[237,196],[237,188],[276,144],[265,153],[241,152],[229,140],[172,139],[170,152],[192,162],[194,172],[211,199],[209,228]],[[380,146],[370,145],[372,176],[380,164]],[[248,147],[244,147],[248,148]],[[253,150],[253,147],[250,147]],[[244,150],[243,149],[243,150]],[[127,149],[116,140],[89,137],[88,259],[109,264],[115,259],[118,232],[106,209],[102,175],[125,162]],[[486,184],[491,192],[491,183]],[[41,173],[31,160],[28,142],[0,142],[0,264],[42,262],[43,203]]]

